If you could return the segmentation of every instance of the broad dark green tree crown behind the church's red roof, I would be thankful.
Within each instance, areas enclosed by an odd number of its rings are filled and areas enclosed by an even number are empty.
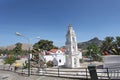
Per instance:
[[[35,50],[51,50],[52,48],[57,48],[53,45],[53,41],[49,40],[40,40],[39,42],[33,45],[33,49]]]

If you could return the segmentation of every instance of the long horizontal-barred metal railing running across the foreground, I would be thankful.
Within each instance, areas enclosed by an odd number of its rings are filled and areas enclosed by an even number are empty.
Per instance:
[[[7,70],[16,72],[22,75],[28,74],[28,69],[18,68],[15,70],[14,66],[0,65],[0,70]],[[120,67],[117,68],[97,68],[96,69],[99,80],[120,80]],[[76,79],[90,79],[88,68],[43,68],[38,71],[37,68],[31,68],[31,75],[38,76],[55,76]]]

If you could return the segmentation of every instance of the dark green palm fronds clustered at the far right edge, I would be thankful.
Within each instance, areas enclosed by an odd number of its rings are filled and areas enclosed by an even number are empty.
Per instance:
[[[120,55],[120,36],[106,37],[101,46],[101,52],[104,54]]]

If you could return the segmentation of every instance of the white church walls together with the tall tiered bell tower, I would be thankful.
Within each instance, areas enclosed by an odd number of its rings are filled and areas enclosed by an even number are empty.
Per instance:
[[[71,25],[68,26],[65,48],[65,52],[58,49],[56,52],[51,52],[49,55],[44,55],[43,57],[45,61],[53,61],[54,66],[64,66],[68,68],[80,67],[82,52],[78,51],[76,34]]]

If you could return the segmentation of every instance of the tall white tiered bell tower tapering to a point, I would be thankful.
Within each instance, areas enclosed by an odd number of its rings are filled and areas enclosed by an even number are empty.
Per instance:
[[[77,68],[80,67],[80,53],[78,51],[76,34],[71,25],[68,26],[66,34],[66,67]]]

